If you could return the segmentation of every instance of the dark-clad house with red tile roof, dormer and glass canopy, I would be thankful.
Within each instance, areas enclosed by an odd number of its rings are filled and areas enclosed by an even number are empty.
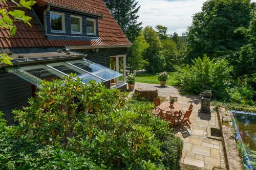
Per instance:
[[[0,110],[13,123],[12,110],[28,105],[40,80],[76,74],[108,88],[126,89],[125,68],[130,41],[103,0],[37,0],[32,27],[17,23],[17,32],[0,28],[0,52],[13,66],[0,65]],[[0,1],[0,8],[12,6]]]

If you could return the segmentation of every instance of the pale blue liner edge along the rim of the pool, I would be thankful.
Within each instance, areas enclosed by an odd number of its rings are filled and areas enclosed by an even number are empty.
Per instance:
[[[234,126],[234,130],[236,131],[237,140],[241,141],[241,143],[242,143],[242,150],[243,150],[244,159],[245,159],[243,161],[244,161],[245,167],[248,170],[253,170],[251,164],[248,162],[249,158],[248,158],[247,152],[245,150],[244,143],[243,143],[242,137],[240,135],[240,132],[239,132],[236,120],[234,119],[233,113],[236,113],[236,114],[237,113],[238,114],[249,114],[249,115],[255,115],[255,116],[256,116],[256,113],[244,112],[244,111],[238,111],[238,110],[231,110],[229,113],[230,113],[231,121],[232,121],[233,126]]]

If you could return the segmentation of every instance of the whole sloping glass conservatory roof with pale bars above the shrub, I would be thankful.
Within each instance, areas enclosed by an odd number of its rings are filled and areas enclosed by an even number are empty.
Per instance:
[[[71,73],[76,74],[75,78],[79,77],[85,84],[89,83],[90,80],[100,83],[122,76],[119,72],[87,59],[6,67],[6,70],[38,87],[40,87],[41,80],[52,81],[61,79]]]

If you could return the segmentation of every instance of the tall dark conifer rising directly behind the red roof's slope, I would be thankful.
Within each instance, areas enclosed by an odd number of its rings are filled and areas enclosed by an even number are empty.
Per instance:
[[[142,22],[138,22],[140,6],[136,0],[104,0],[118,25],[131,42],[140,35]]]

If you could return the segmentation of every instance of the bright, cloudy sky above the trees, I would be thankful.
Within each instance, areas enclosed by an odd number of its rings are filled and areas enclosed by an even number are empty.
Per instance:
[[[180,36],[191,25],[192,17],[201,11],[206,0],[138,0],[139,21],[143,27],[162,25],[168,34],[177,32]],[[256,0],[252,0],[256,2]]]

